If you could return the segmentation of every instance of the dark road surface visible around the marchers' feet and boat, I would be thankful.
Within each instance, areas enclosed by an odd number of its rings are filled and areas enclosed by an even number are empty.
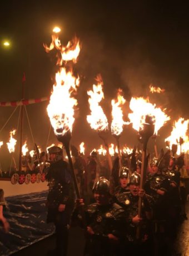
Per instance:
[[[187,216],[189,217],[189,201],[187,201]],[[54,249],[54,246],[55,238],[52,235],[12,255],[46,256],[49,250]],[[82,230],[77,227],[71,228],[69,230],[68,256],[82,256],[83,247],[84,235]],[[189,256],[189,220],[183,221],[180,225],[175,242],[175,251],[177,256]]]

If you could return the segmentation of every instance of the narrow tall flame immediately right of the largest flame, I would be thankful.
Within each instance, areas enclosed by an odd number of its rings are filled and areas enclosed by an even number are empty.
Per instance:
[[[98,104],[104,99],[104,94],[102,91],[102,78],[100,75],[97,76],[97,85],[93,85],[93,91],[87,91],[89,95],[89,107],[91,110],[91,115],[87,116],[87,121],[91,125],[92,129],[97,131],[108,130],[108,121],[102,107]]]

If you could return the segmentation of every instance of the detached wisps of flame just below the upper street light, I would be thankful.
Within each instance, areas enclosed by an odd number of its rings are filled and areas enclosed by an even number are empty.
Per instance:
[[[79,40],[74,37],[72,41],[69,41],[67,46],[62,46],[61,41],[57,34],[52,35],[51,45],[48,47],[44,44],[46,52],[52,51],[54,47],[61,53],[61,57],[58,57],[57,65],[62,66],[62,61],[73,61],[77,62],[77,58],[80,52]]]

